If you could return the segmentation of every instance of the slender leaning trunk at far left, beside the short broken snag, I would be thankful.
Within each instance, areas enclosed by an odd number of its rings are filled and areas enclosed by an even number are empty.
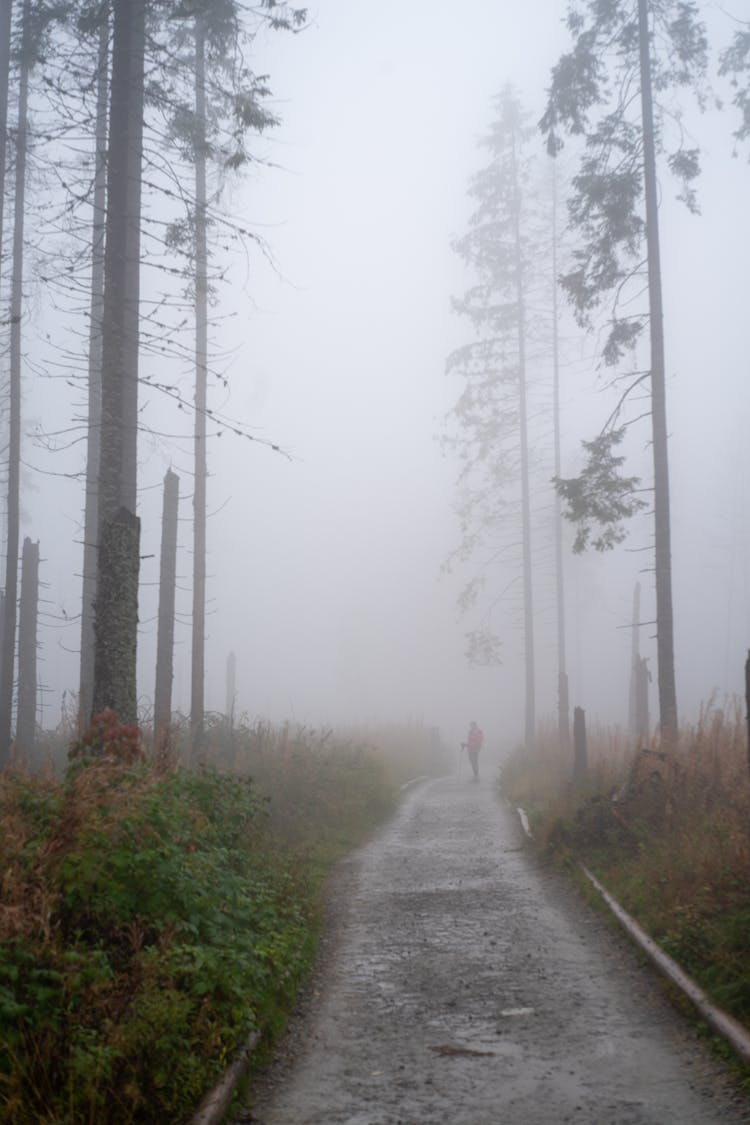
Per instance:
[[[0,681],[0,766],[10,757],[16,666],[16,618],[18,601],[18,537],[21,456],[21,314],[24,307],[24,205],[26,195],[26,150],[28,142],[28,72],[30,53],[30,0],[24,0],[21,51],[18,82],[18,129],[16,140],[16,189],[13,199],[13,253],[10,282],[10,403],[8,440],[8,546],[6,554],[6,602],[2,623],[2,677]]]

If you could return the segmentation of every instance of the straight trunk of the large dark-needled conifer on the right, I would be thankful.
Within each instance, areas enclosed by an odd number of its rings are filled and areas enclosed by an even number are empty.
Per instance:
[[[669,461],[667,450],[667,394],[665,335],[659,251],[659,207],[651,92],[649,4],[639,0],[641,112],[643,125],[643,184],[645,240],[649,260],[649,322],[651,336],[651,421],[653,432],[653,526],[657,591],[657,654],[661,737],[677,738],[677,690],[671,590],[671,534],[669,521]]]

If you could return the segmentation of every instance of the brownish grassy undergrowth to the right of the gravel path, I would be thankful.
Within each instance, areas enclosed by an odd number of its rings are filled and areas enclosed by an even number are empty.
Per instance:
[[[712,997],[750,1027],[750,775],[738,705],[706,708],[674,750],[589,732],[589,768],[552,737],[503,791],[558,862],[582,861]]]

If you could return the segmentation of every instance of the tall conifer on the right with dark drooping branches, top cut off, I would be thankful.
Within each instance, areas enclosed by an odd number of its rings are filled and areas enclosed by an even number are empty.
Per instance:
[[[676,110],[671,104],[665,107],[654,101],[653,91],[663,94],[687,86],[699,91],[706,69],[706,38],[692,0],[575,0],[568,10],[568,27],[573,47],[552,71],[541,120],[553,155],[560,151],[561,132],[584,137],[584,155],[569,201],[570,225],[582,245],[562,285],[584,326],[590,325],[594,310],[611,298],[603,349],[607,364],[617,364],[635,349],[648,325],[648,370],[632,378],[605,429],[614,433],[627,392],[648,382],[659,713],[662,737],[670,740],[677,734],[677,693],[657,159],[667,158],[681,183],[680,198],[696,209],[693,181],[698,173],[698,153],[683,145],[679,130],[675,146],[668,147],[668,115],[674,119]],[[630,298],[642,287],[644,260],[648,310],[632,314],[627,312]],[[602,441],[588,443],[588,448],[600,453]],[[595,480],[589,474],[588,484]],[[611,482],[605,476],[599,483],[606,498]],[[598,521],[602,495],[596,488],[579,490],[579,514],[582,512],[585,520]],[[599,541],[607,540],[605,530]]]

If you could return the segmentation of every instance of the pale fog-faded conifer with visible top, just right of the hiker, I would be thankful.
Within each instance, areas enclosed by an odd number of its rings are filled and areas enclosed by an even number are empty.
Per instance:
[[[521,515],[521,566],[525,669],[524,732],[535,736],[534,609],[532,580],[531,470],[527,404],[527,300],[532,277],[534,223],[531,220],[527,115],[510,87],[496,100],[496,118],[485,138],[489,163],[473,177],[476,209],[469,232],[455,250],[477,281],[454,300],[476,339],[454,351],[448,370],[466,380],[453,410],[458,434],[449,440],[463,468],[462,551],[470,555],[508,525],[515,505]],[[517,490],[517,492],[516,492]],[[513,495],[515,492],[515,496]],[[480,582],[486,580],[486,574]],[[464,604],[478,593],[470,584]],[[495,658],[497,639],[475,634],[473,654]]]

